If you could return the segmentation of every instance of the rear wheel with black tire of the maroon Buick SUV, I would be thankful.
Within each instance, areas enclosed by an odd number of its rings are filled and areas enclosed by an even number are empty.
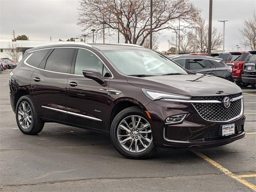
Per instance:
[[[16,105],[15,114],[16,122],[22,133],[33,135],[42,131],[44,122],[38,117],[35,104],[29,96],[20,97]]]

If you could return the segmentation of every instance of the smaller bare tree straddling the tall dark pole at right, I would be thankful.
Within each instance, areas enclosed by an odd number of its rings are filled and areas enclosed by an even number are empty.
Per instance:
[[[205,19],[200,18],[197,22],[197,48],[199,52],[206,53],[208,50],[208,25],[205,23]],[[193,39],[195,34],[193,33]],[[195,45],[195,44],[194,44]],[[222,45],[222,34],[218,33],[216,27],[212,28],[212,46],[211,50],[218,49]]]

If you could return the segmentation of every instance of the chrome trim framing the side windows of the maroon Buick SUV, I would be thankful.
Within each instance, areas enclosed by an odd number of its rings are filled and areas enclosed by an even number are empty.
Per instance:
[[[109,71],[110,74],[111,74],[111,77],[104,77],[104,78],[107,78],[107,79],[112,79],[112,78],[114,78],[114,75],[112,74],[112,72],[110,71],[110,69],[108,68],[108,66],[106,66],[106,64],[102,61],[102,59],[101,59],[97,54],[95,54],[93,51],[91,51],[91,50],[89,50],[89,49],[86,49],[86,48],[82,48],[82,47],[51,47],[51,48],[44,48],[44,49],[37,49],[37,50],[29,51],[28,53],[32,53],[32,54],[33,54],[33,52],[39,51],[39,50],[59,49],[59,48],[77,48],[77,49],[84,49],[84,50],[87,50],[87,51],[92,52],[92,54],[96,55],[96,56],[99,58],[99,60],[103,63],[103,65],[108,69],[108,71]],[[34,67],[34,66],[32,66],[32,65],[30,65],[30,64],[27,63],[28,58],[30,58],[30,56],[31,56],[32,54],[30,54],[30,55],[24,60],[24,64],[26,64],[27,66],[30,66],[30,67],[33,67],[33,68],[36,68],[36,69],[39,69],[39,70],[47,71],[47,72],[52,72],[52,73],[66,74],[66,75],[73,75],[73,76],[83,76],[83,75],[77,75],[77,74],[70,74],[70,73],[62,73],[62,72],[49,71],[49,70],[45,70],[45,69],[40,69],[40,68]]]

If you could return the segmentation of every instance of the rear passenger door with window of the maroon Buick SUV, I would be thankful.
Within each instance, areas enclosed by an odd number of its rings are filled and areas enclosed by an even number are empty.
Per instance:
[[[67,80],[74,48],[51,49],[31,77],[32,90],[42,118],[66,122]]]

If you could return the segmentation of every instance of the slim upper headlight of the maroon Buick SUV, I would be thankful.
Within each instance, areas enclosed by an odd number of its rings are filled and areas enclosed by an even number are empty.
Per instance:
[[[156,91],[151,89],[141,89],[142,92],[150,99],[150,100],[160,100],[160,99],[181,99],[181,100],[190,100],[190,96],[179,95],[174,93]]]

